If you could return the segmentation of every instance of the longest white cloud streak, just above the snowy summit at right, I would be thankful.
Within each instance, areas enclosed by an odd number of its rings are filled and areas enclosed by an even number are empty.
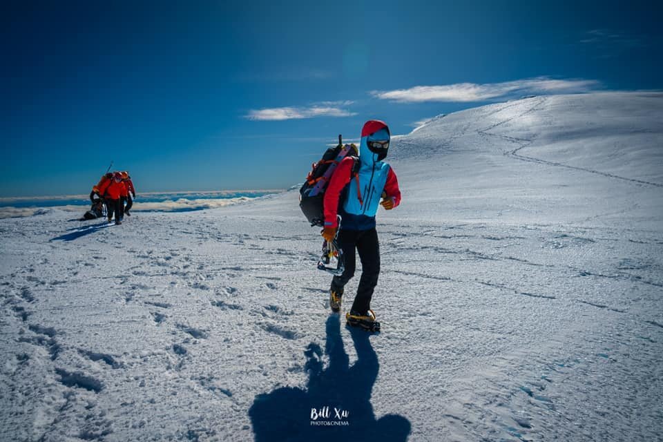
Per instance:
[[[596,80],[558,80],[537,77],[503,83],[457,83],[445,86],[414,86],[409,89],[380,91],[371,94],[379,99],[401,103],[484,102],[508,95],[561,94],[588,92],[600,86]]]

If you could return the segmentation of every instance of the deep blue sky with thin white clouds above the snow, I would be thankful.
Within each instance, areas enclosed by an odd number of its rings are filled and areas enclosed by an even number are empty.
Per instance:
[[[246,3],[246,4],[244,4]],[[3,1],[0,196],[287,188],[338,133],[660,90],[653,1]]]

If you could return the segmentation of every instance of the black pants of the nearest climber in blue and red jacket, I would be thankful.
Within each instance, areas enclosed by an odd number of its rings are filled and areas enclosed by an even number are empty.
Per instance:
[[[378,232],[375,228],[370,230],[343,230],[338,233],[336,240],[338,247],[343,250],[345,258],[345,271],[340,276],[334,276],[332,290],[342,292],[343,287],[354,276],[356,269],[355,249],[359,252],[361,260],[361,278],[357,288],[357,296],[352,303],[352,310],[358,314],[366,314],[371,308],[373,291],[378,284],[380,274],[380,244]]]

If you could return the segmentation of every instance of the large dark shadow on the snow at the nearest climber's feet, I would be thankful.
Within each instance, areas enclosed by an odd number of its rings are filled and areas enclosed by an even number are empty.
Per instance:
[[[327,369],[320,345],[311,343],[304,352],[309,373],[305,390],[282,387],[256,396],[249,409],[256,442],[407,440],[411,425],[403,416],[375,419],[370,399],[380,367],[378,356],[369,333],[350,328],[350,334],[357,352],[352,367],[340,336],[340,317],[331,315],[325,343]]]

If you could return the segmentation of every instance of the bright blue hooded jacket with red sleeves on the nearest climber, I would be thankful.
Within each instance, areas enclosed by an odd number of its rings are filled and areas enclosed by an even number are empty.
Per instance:
[[[369,230],[375,227],[375,215],[382,193],[394,201],[394,207],[401,204],[401,190],[398,189],[396,173],[383,162],[385,152],[380,155],[368,148],[369,137],[378,134],[380,140],[389,140],[387,124],[371,120],[364,124],[359,143],[359,171],[352,177],[354,159],[345,157],[338,164],[325,191],[325,227],[338,227],[337,213],[343,218],[343,229]],[[339,206],[341,197],[343,202]]]

